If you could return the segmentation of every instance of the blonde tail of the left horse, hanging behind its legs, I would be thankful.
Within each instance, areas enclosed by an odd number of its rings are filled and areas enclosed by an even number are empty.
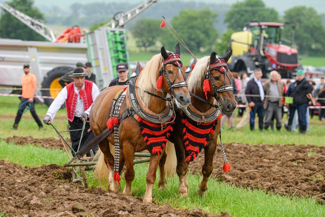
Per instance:
[[[110,153],[114,156],[114,146],[110,144]],[[97,159],[97,164],[94,170],[94,174],[97,177],[97,182],[100,185],[109,182],[110,170],[108,169],[105,160],[104,153],[99,149],[94,157]]]

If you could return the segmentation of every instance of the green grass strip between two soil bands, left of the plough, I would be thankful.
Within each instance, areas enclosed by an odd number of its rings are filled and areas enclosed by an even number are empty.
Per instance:
[[[69,161],[67,154],[60,149],[51,150],[32,144],[21,146],[3,140],[0,140],[0,159],[28,167],[38,167],[43,164],[63,165]]]

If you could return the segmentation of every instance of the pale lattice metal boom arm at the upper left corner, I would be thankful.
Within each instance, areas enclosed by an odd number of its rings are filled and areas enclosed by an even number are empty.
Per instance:
[[[59,34],[58,31],[55,29],[52,29],[51,27],[45,25],[42,20],[34,19],[19,10],[15,9],[14,7],[10,7],[6,3],[2,2],[0,4],[0,7],[8,11],[11,15],[16,17],[18,20],[23,22],[25,25],[27,25],[29,28],[37,32],[38,34],[42,35],[47,40],[54,42],[55,41],[55,34]]]

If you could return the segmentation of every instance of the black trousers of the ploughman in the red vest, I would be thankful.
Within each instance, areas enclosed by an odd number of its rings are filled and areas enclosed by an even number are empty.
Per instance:
[[[89,120],[89,118],[88,118]],[[82,129],[84,122],[80,119],[80,117],[74,116],[73,121],[69,121],[69,130],[74,130],[74,129]],[[72,149],[77,152],[78,151],[78,146],[79,146],[79,141],[81,137],[81,132],[82,130],[76,130],[76,131],[70,131],[70,139],[72,143]],[[86,122],[85,124],[85,129],[84,133],[81,139],[80,143],[80,148],[79,151],[89,142],[91,142],[95,138],[95,135],[93,131],[90,129],[90,124]],[[98,145],[93,147],[93,152],[95,153],[98,150]],[[74,153],[72,152],[72,156],[74,156]],[[90,152],[87,153],[87,157],[90,157]]]

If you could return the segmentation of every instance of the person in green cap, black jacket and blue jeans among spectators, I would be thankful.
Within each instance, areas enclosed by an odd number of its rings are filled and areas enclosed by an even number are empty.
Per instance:
[[[311,93],[313,87],[305,79],[305,73],[302,69],[299,69],[296,74],[296,82],[292,92],[293,104],[295,105],[290,109],[290,117],[287,129],[290,131],[293,115],[295,110],[298,110],[299,119],[299,132],[305,134],[307,129],[307,107],[309,102],[308,94]]]

